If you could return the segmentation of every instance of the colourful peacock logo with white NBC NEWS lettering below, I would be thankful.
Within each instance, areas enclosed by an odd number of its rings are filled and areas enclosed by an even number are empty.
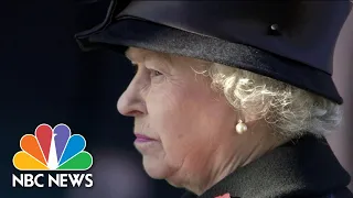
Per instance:
[[[72,134],[68,125],[61,123],[53,129],[49,124],[36,127],[34,135],[25,134],[20,140],[22,151],[14,154],[13,166],[19,170],[87,170],[93,165],[92,155],[84,151],[86,140],[81,134]],[[44,174],[12,175],[12,186],[20,184],[22,187],[44,187],[40,178]],[[68,177],[68,178],[67,178]],[[92,174],[56,174],[56,177],[47,175],[49,187],[56,184],[67,187],[62,180],[69,180],[73,186],[81,185],[85,178],[89,187],[93,185]],[[87,185],[86,185],[87,187]]]

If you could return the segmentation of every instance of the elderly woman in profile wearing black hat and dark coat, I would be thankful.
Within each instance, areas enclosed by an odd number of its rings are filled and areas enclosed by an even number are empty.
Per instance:
[[[83,48],[125,53],[118,101],[146,172],[185,198],[350,198],[324,135],[349,1],[113,1]],[[167,196],[165,196],[167,197]]]

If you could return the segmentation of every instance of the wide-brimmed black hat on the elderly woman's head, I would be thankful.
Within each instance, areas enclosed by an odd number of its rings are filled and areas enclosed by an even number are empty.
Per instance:
[[[349,0],[113,0],[76,38],[83,50],[135,46],[234,66],[341,105],[333,51],[350,10]]]

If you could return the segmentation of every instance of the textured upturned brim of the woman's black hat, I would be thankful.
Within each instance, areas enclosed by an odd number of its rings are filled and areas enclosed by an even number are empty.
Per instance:
[[[97,47],[124,53],[128,46],[188,56],[246,69],[311,91],[339,105],[343,103],[331,75],[302,63],[145,20],[124,18],[106,29],[76,36],[83,50]]]

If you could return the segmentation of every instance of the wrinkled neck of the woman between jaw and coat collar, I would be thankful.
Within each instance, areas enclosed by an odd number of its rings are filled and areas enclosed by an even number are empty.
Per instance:
[[[208,173],[207,176],[199,177],[194,183],[189,183],[184,187],[189,191],[200,196],[237,168],[256,161],[265,153],[288,141],[287,139],[274,135],[269,131],[264,130],[264,128],[261,129],[261,131],[248,131],[244,134],[235,134],[234,140],[225,141],[213,153],[212,160],[208,163],[208,169],[203,170],[203,173]],[[197,176],[194,177],[197,178]]]

